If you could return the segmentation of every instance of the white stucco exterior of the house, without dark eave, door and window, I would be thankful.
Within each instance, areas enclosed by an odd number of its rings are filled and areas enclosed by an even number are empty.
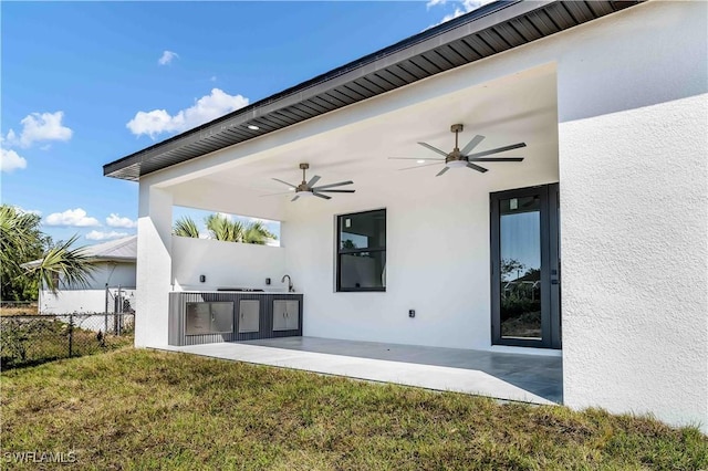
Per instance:
[[[144,177],[136,345],[167,344],[167,293],[194,284],[199,264],[221,284],[243,263],[253,273],[243,282],[256,286],[279,268],[293,276],[306,300],[305,335],[497,348],[489,193],[560,182],[564,402],[708,431],[707,17],[705,2],[649,1]],[[440,108],[449,125],[486,93],[506,106],[503,93],[518,83],[532,93],[510,102],[540,97],[553,124],[491,128],[531,136],[523,166],[477,179],[365,168],[356,198],[321,206],[260,198],[217,178],[235,168],[257,175],[259,161],[275,166],[289,154],[325,154],[327,143],[353,151],[362,136],[384,159],[397,129]],[[281,220],[282,247],[263,270],[236,248],[199,255],[173,240],[171,205]],[[335,217],[377,208],[387,210],[387,291],[335,293]],[[449,243],[441,230],[454,234]]]

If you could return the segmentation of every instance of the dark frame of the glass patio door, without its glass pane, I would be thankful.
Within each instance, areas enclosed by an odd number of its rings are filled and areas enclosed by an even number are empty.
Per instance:
[[[500,208],[509,198],[540,197],[541,226],[541,339],[501,336]],[[559,185],[540,185],[489,195],[491,245],[492,345],[561,348],[561,279],[559,250]]]

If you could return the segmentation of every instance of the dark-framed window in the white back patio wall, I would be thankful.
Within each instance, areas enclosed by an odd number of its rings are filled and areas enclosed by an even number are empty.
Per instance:
[[[336,221],[336,291],[386,291],[386,210]]]

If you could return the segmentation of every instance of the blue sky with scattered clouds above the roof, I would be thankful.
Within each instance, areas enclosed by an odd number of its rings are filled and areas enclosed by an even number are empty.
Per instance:
[[[137,184],[104,164],[478,6],[2,2],[2,202],[55,240],[133,234]]]

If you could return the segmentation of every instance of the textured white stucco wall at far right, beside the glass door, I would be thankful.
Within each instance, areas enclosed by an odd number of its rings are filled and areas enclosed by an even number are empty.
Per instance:
[[[581,27],[558,66],[564,401],[704,431],[707,10]]]

